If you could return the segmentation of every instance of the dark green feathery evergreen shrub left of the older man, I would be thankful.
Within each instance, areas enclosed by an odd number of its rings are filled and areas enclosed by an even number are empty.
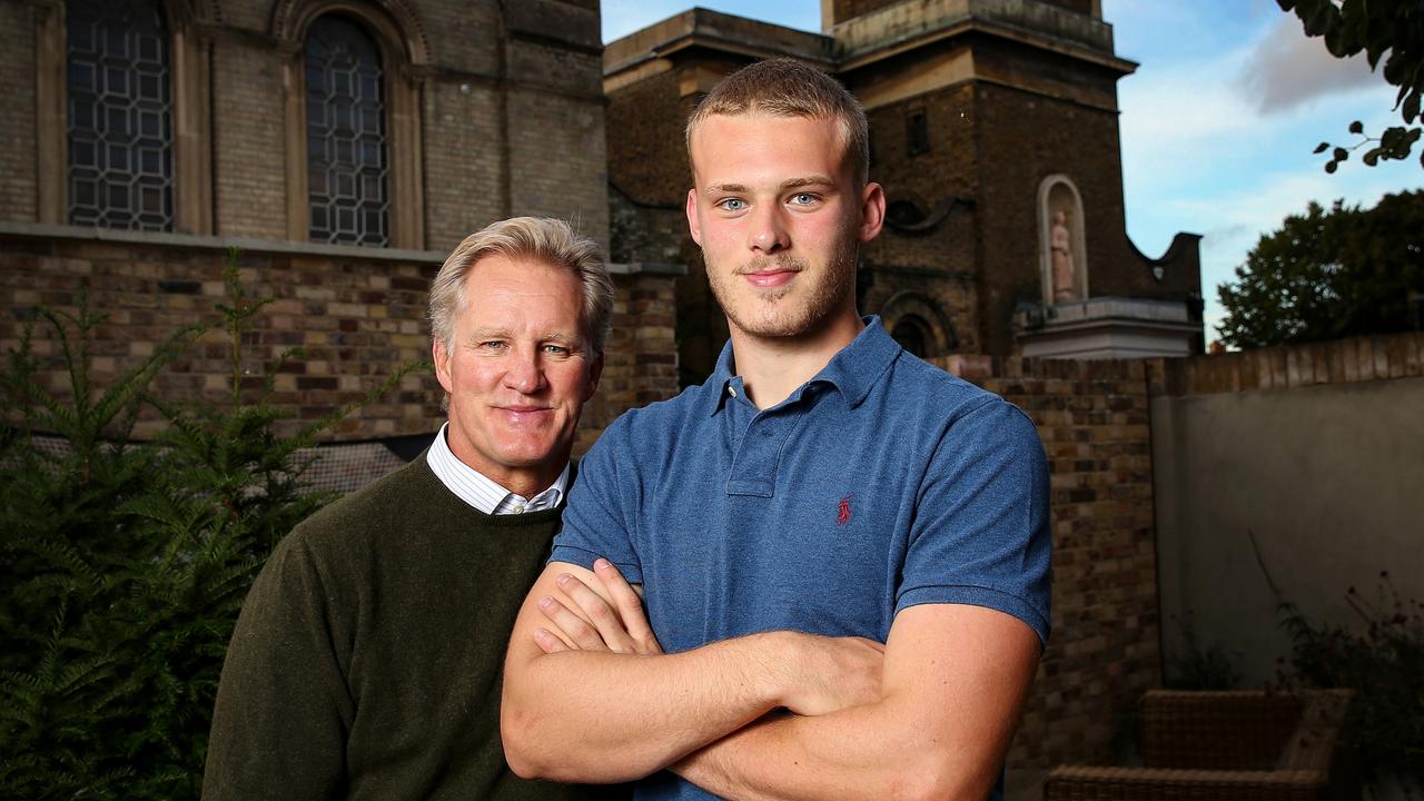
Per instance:
[[[101,318],[87,308],[40,311],[9,353],[0,373],[0,798],[199,794],[242,599],[278,539],[326,500],[302,483],[298,449],[355,408],[282,438],[273,429],[282,413],[265,392],[244,403],[244,335],[266,301],[245,295],[234,259],[228,285],[218,311],[232,343],[232,393],[221,408],[148,392],[216,326],[175,334],[103,392],[87,352]],[[37,324],[58,338],[73,400],[34,381]],[[145,403],[168,419],[167,432],[122,445]],[[41,448],[36,432],[68,448]]]

